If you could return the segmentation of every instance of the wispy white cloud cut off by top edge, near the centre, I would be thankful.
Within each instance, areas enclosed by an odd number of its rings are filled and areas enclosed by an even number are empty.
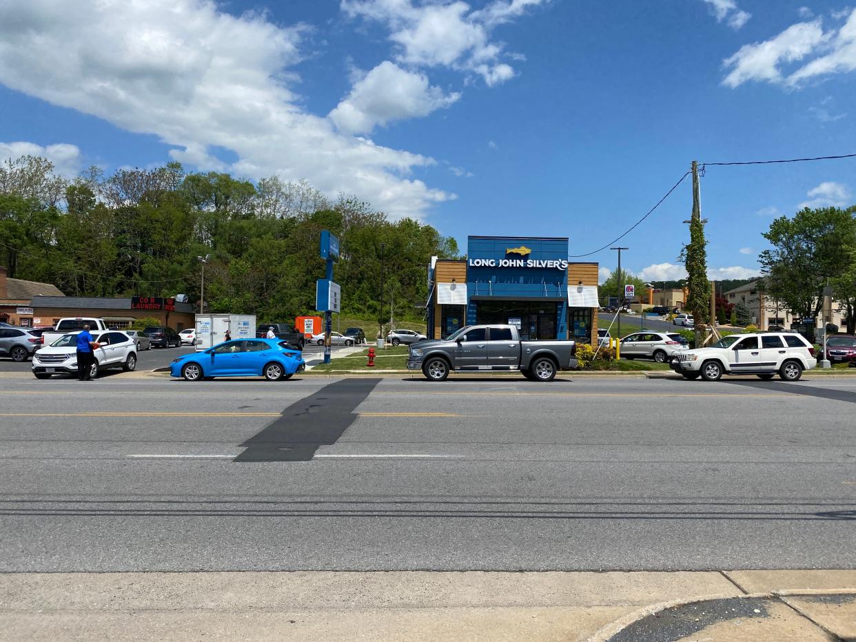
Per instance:
[[[491,41],[491,31],[545,1],[494,0],[473,11],[460,1],[342,0],[342,10],[389,27],[397,62],[473,72],[493,86],[514,77],[514,68],[502,62],[504,45]]]

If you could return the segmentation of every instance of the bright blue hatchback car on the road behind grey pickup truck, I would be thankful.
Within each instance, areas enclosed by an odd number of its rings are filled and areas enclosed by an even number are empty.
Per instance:
[[[235,339],[203,352],[185,354],[169,364],[169,374],[199,381],[211,377],[265,377],[290,379],[303,372],[300,352],[280,339]]]

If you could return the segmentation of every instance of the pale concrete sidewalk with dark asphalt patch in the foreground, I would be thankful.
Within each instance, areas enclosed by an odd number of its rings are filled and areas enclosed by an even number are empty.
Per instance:
[[[856,571],[0,574],[0,640],[856,639]]]

